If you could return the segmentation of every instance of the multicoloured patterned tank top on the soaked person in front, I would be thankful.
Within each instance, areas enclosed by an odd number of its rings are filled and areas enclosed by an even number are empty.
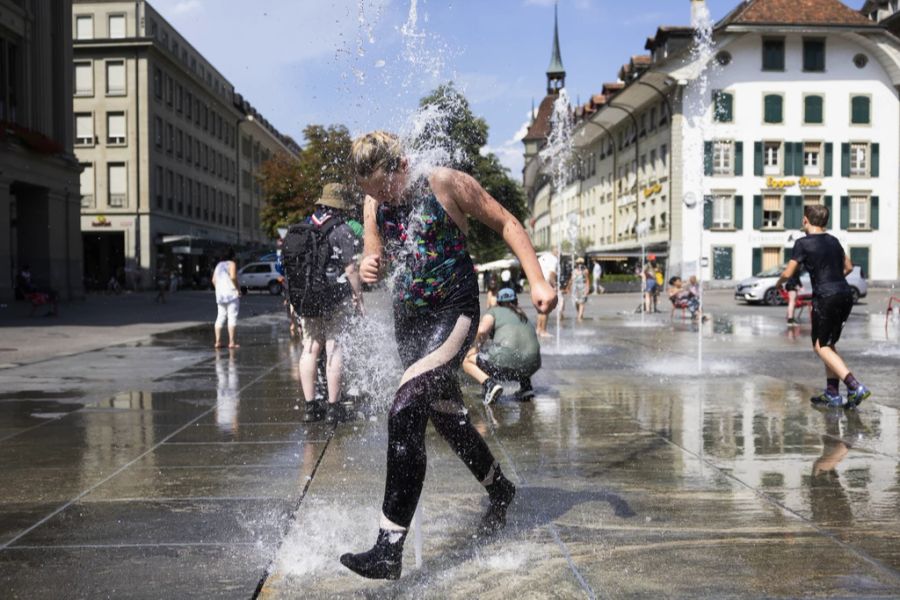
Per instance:
[[[392,262],[395,309],[421,313],[458,303],[477,307],[466,236],[430,191],[407,205],[381,205],[378,228]]]

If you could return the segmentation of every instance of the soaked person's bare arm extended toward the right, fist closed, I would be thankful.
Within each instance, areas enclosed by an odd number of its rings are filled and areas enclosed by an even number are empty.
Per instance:
[[[503,236],[503,241],[519,259],[531,284],[531,299],[535,307],[542,313],[553,310],[556,306],[556,293],[544,280],[534,247],[519,220],[465,173],[452,169],[435,169],[429,182],[439,198],[449,200],[460,212],[481,221]]]

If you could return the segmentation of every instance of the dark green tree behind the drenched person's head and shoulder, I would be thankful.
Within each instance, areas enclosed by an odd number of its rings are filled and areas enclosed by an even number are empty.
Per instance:
[[[420,106],[435,109],[441,117],[429,120],[413,144],[442,147],[451,156],[447,166],[474,177],[506,210],[520,221],[524,219],[528,209],[522,187],[495,154],[481,154],[487,144],[488,124],[472,113],[465,96],[450,83],[422,98]],[[478,262],[496,260],[509,252],[499,234],[475,220],[470,223],[468,242],[469,252]]]

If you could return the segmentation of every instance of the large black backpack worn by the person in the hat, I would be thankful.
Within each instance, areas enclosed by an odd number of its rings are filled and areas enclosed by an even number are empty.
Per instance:
[[[351,292],[349,282],[337,281],[344,268],[332,258],[334,247],[328,241],[331,231],[342,223],[334,216],[321,226],[297,223],[284,236],[284,277],[291,305],[301,317],[331,314]]]

